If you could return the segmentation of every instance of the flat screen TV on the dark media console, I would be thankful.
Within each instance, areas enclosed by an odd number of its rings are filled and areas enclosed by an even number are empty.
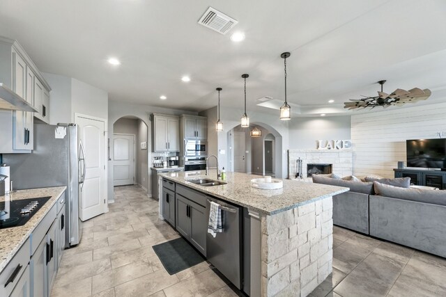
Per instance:
[[[446,168],[446,138],[406,141],[407,167]]]

